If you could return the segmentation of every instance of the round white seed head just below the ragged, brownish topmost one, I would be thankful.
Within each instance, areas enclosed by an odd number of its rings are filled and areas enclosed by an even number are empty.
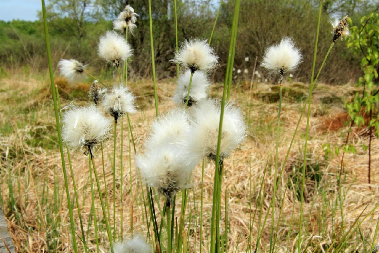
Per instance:
[[[100,38],[99,56],[107,62],[112,62],[116,67],[122,60],[128,59],[133,55],[130,45],[121,35],[114,31],[107,31]]]

